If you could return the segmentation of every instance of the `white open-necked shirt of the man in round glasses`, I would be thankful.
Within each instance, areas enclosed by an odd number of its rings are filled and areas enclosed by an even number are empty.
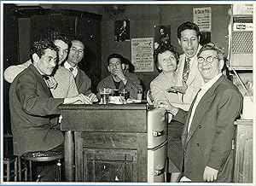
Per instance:
[[[188,132],[189,132],[192,120],[194,118],[195,109],[197,108],[199,102],[201,101],[201,98],[207,93],[207,90],[209,90],[212,87],[212,85],[215,84],[215,82],[218,80],[218,78],[221,77],[221,75],[222,75],[222,73],[219,73],[217,76],[215,76],[210,81],[208,81],[207,84],[202,85],[201,90],[197,94],[195,103],[194,103],[192,111],[191,111],[191,115],[189,118]]]

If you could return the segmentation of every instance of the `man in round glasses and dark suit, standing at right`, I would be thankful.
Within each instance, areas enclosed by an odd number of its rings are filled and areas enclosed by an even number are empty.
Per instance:
[[[242,97],[221,70],[223,49],[204,45],[198,53],[198,69],[204,85],[189,111],[160,101],[159,108],[184,123],[183,174],[192,182],[232,182],[234,168],[234,121],[241,112]]]

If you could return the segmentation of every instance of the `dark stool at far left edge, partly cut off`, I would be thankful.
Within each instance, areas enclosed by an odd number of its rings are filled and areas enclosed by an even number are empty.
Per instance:
[[[6,168],[4,167],[6,166]],[[9,158],[3,158],[3,178],[6,178],[6,181],[9,182],[12,177],[15,178],[17,182],[18,177],[18,157],[10,156]],[[6,170],[6,171],[5,171]]]

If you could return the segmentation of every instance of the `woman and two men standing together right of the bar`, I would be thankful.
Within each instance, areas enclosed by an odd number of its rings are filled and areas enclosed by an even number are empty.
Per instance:
[[[150,84],[148,99],[169,114],[168,171],[171,182],[230,183],[234,171],[234,121],[242,96],[222,72],[224,49],[201,46],[199,27],[177,28],[183,55],[172,44],[154,50],[160,74]]]

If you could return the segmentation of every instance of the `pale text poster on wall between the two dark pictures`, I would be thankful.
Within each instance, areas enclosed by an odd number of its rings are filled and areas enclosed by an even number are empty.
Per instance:
[[[154,71],[153,38],[131,38],[131,63],[134,72]]]

